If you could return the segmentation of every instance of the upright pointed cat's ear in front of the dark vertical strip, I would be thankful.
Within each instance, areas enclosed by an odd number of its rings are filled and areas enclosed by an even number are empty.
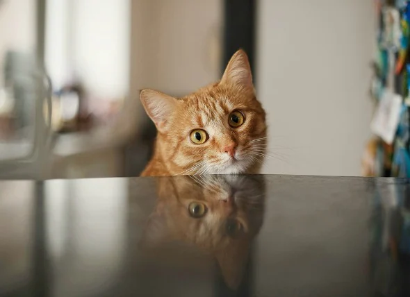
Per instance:
[[[242,85],[244,87],[253,87],[252,71],[249,60],[245,51],[240,49],[233,54],[231,60],[224,71],[220,83],[230,83],[233,85]]]

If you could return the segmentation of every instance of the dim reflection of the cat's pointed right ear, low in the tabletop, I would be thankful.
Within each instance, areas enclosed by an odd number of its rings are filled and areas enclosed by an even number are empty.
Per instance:
[[[245,242],[233,242],[215,253],[222,276],[227,286],[238,289],[245,275],[245,269],[249,257],[249,246]]]

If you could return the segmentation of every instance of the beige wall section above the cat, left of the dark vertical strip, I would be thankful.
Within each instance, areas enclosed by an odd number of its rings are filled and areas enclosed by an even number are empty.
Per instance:
[[[134,0],[132,8],[131,94],[181,96],[220,78],[222,1]]]

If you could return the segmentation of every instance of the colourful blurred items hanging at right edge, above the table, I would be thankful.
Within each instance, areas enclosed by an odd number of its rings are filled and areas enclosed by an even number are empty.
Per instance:
[[[377,139],[366,146],[362,173],[410,178],[410,1],[376,0],[375,8],[379,28],[371,94]]]

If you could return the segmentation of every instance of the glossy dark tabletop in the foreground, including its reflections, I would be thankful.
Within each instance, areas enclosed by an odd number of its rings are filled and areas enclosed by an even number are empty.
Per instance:
[[[410,296],[407,180],[0,181],[0,296]]]

